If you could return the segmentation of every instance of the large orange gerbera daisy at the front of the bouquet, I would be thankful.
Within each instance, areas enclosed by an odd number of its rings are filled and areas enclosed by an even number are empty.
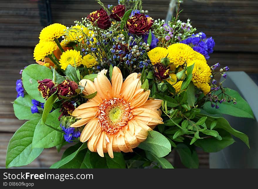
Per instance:
[[[102,71],[94,82],[81,81],[85,95],[97,94],[74,110],[72,115],[80,120],[71,127],[85,125],[80,141],[88,141],[90,151],[102,157],[108,153],[111,158],[113,152],[131,152],[147,138],[147,131],[163,123],[157,110],[162,101],[148,100],[150,90],[141,88],[137,76],[130,74],[123,82],[120,69],[114,67],[112,85]]]

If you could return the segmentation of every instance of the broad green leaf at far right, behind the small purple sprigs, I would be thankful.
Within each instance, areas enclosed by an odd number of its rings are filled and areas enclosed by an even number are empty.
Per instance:
[[[242,117],[242,118],[254,118],[254,114],[252,112],[252,109],[250,108],[249,104],[245,99],[243,99],[240,94],[237,91],[234,91],[232,89],[227,90],[225,92],[227,95],[232,96],[237,99],[237,104],[233,104],[232,102],[223,102],[219,104],[218,109],[212,108],[210,102],[206,102],[203,106],[203,109],[210,114],[218,114],[218,113],[223,113],[223,114],[228,114],[228,115],[233,115],[236,117]],[[219,94],[219,92],[215,93]],[[219,98],[221,95],[218,96]]]

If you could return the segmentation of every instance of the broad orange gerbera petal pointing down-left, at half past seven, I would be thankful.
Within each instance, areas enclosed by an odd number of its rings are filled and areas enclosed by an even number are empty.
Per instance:
[[[92,136],[92,134],[94,133],[94,131],[96,130],[96,127],[100,127],[98,119],[95,118],[93,120],[91,120],[82,130],[82,134],[80,136],[80,141],[81,142],[86,142],[87,140],[89,140],[89,138]]]

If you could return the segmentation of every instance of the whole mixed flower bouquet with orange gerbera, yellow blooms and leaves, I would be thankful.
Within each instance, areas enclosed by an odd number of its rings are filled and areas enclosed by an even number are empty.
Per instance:
[[[173,168],[172,150],[198,168],[196,146],[216,152],[233,135],[249,147],[247,135],[212,116],[253,113],[222,85],[229,68],[208,66],[215,42],[178,19],[179,1],[168,22],[154,21],[140,0],[97,2],[102,8],[75,25],[40,32],[36,63],[16,83],[14,113],[28,121],[9,142],[6,167],[67,144],[50,168]]]

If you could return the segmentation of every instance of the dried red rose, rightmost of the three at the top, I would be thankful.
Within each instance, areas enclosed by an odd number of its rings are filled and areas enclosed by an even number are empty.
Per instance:
[[[130,33],[142,35],[149,31],[153,23],[153,19],[150,16],[146,18],[145,14],[136,13],[128,19],[126,27]]]

